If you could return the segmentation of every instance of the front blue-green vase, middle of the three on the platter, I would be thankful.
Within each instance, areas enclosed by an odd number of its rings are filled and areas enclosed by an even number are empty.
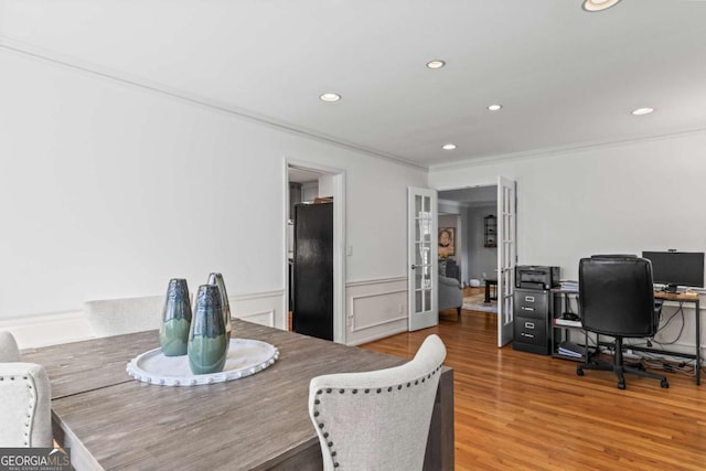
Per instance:
[[[189,332],[189,367],[195,375],[218,373],[225,366],[228,339],[218,287],[202,285],[196,293]]]

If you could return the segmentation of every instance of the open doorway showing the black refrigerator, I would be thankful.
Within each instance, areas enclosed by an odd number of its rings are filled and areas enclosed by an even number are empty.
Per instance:
[[[288,328],[344,343],[343,173],[286,165]]]

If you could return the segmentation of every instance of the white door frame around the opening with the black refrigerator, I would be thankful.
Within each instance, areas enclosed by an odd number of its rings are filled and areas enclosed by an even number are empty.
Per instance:
[[[284,189],[284,213],[282,213],[282,276],[284,296],[281,302],[282,312],[289,312],[289,261],[288,256],[288,229],[287,214],[289,213],[289,168],[295,167],[302,170],[312,171],[322,175],[331,175],[333,183],[333,341],[345,344],[345,171],[332,167],[321,165],[298,159],[285,157],[282,171],[285,175]],[[287,319],[285,325],[277,325],[287,330]]]

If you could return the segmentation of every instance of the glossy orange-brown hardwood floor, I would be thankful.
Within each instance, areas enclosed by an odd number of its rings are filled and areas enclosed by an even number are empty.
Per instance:
[[[495,346],[495,315],[446,311],[438,327],[365,345],[410,358],[426,335],[454,370],[458,470],[706,469],[706,382],[608,372],[579,377],[576,363]]]

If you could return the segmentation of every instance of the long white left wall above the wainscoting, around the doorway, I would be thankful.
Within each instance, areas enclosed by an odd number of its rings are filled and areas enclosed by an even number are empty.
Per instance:
[[[285,288],[286,159],[345,171],[347,280],[406,277],[426,172],[0,49],[0,319]]]

